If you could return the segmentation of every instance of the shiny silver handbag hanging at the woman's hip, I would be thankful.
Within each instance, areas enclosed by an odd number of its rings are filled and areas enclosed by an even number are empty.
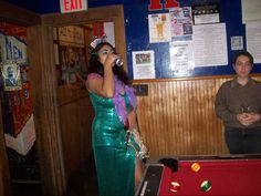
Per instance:
[[[137,128],[126,131],[126,147],[132,147],[137,158],[144,161],[149,157],[148,148]]]

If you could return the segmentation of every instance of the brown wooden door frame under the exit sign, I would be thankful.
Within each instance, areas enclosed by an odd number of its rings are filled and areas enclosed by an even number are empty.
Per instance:
[[[43,195],[62,196],[66,192],[53,28],[104,20],[114,22],[115,47],[126,64],[123,4],[91,8],[87,11],[66,14],[44,14],[41,16],[41,24],[28,29],[28,55],[33,65],[31,81]]]

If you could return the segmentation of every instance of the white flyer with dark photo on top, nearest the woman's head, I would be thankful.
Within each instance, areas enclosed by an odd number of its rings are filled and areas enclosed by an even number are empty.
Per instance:
[[[134,79],[155,79],[154,51],[133,52]]]

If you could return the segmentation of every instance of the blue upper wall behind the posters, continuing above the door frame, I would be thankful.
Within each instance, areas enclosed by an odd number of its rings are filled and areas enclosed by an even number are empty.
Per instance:
[[[10,0],[21,7],[28,8],[39,13],[59,12],[59,0]],[[164,2],[164,1],[161,1]],[[233,35],[242,35],[246,47],[246,27],[241,19],[241,0],[179,0],[180,7],[198,6],[208,3],[220,4],[220,22],[225,22],[227,27],[228,40],[228,56],[229,64],[222,66],[207,66],[196,68],[192,72],[186,75],[175,75],[169,70],[169,43],[149,43],[148,32],[148,14],[168,12],[168,10],[148,11],[149,0],[88,0],[88,8],[124,4],[125,14],[125,32],[126,32],[126,49],[128,72],[133,78],[132,70],[132,52],[142,50],[155,51],[155,66],[157,78],[180,78],[180,76],[196,76],[196,75],[223,75],[233,74],[231,61],[234,52],[231,51],[230,38]],[[261,66],[255,65],[253,73],[261,73]]]

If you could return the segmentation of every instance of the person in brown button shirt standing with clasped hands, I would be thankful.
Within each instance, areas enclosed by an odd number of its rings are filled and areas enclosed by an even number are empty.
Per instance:
[[[216,96],[216,114],[223,121],[231,154],[261,154],[261,82],[250,78],[253,56],[241,51],[233,59],[236,76]]]

